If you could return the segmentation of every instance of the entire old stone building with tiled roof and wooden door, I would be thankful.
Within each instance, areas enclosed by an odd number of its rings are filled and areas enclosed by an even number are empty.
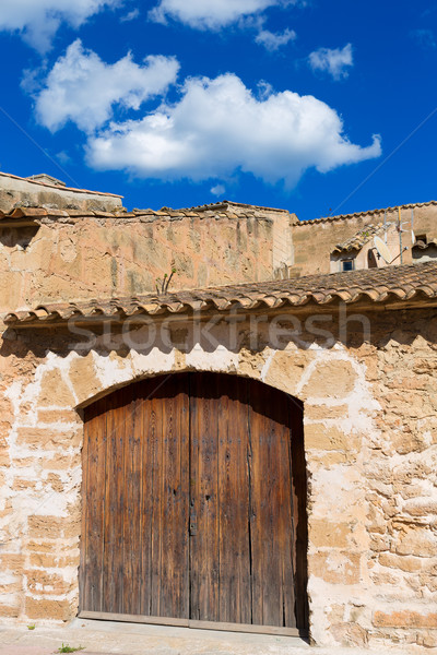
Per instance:
[[[2,620],[436,647],[436,203],[69,202],[0,213]]]

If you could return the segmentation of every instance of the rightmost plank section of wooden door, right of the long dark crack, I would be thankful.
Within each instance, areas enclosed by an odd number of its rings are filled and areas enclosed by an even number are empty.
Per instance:
[[[252,622],[295,627],[287,398],[251,382],[249,421]]]

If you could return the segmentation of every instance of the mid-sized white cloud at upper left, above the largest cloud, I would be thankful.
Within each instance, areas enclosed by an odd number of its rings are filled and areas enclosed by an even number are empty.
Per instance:
[[[37,119],[51,131],[69,120],[81,130],[94,130],[111,118],[114,105],[139,109],[147,98],[163,95],[178,70],[175,58],[162,56],[138,64],[128,53],[116,63],[105,63],[76,39],[55,63],[36,98]]]

